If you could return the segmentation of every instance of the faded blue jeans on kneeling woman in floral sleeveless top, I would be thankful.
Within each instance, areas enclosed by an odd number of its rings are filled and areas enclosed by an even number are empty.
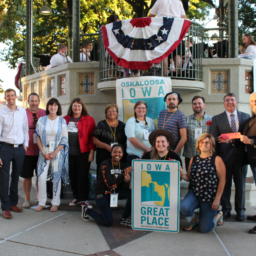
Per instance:
[[[192,191],[188,191],[180,204],[180,211],[188,222],[195,217],[194,210],[197,208],[199,208],[199,230],[202,233],[208,233],[217,224],[217,220],[214,218],[217,211],[212,210],[211,203],[200,202]]]

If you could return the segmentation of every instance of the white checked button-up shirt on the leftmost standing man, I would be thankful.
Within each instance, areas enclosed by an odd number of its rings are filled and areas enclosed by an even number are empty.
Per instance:
[[[28,118],[24,108],[15,111],[7,106],[0,111],[1,141],[11,144],[24,144],[28,147]]]

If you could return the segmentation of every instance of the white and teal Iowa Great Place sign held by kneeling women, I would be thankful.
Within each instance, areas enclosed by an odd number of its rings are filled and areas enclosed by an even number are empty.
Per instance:
[[[179,232],[179,162],[133,160],[132,228]]]

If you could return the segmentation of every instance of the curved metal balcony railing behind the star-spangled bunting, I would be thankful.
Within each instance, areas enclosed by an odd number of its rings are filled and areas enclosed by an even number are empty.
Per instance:
[[[189,40],[191,46],[189,47]],[[187,43],[187,51],[185,44]],[[169,76],[173,79],[203,80],[202,58],[204,57],[204,28],[197,22],[191,26],[179,46],[160,63],[148,70],[125,69],[116,65],[103,44],[99,34],[100,81],[116,80],[129,76]]]

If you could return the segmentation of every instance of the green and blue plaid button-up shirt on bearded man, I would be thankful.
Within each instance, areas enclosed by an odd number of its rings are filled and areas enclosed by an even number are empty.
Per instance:
[[[212,116],[207,115],[206,113],[199,121],[195,114],[189,115],[187,119],[187,141],[184,145],[184,150],[182,156],[192,158],[193,156],[198,155],[197,150],[195,149],[197,144],[197,139],[195,139],[195,129],[202,128],[203,133],[210,133],[210,125],[207,125],[207,121],[212,121]]]

